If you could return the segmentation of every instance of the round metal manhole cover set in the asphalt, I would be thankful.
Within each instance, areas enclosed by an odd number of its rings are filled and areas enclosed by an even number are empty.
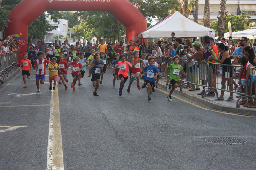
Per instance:
[[[247,142],[244,139],[240,138],[207,138],[206,142],[214,143],[214,144],[225,144],[225,145],[234,145],[234,144],[243,144]]]

